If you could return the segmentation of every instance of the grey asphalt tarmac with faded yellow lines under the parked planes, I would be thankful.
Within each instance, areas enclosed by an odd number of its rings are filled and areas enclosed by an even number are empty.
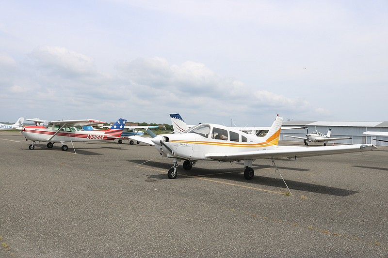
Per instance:
[[[388,257],[387,147],[276,160],[287,195],[267,159],[170,180],[152,146],[30,143],[0,132],[0,257]]]

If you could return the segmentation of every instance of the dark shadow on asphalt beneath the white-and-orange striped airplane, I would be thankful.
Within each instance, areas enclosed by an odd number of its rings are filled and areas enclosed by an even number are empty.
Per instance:
[[[172,164],[170,163],[163,163],[159,161],[145,161],[145,160],[128,160],[129,162],[143,164],[145,167],[158,167],[161,169],[167,170],[171,167]],[[271,166],[255,166],[260,168],[266,168]],[[179,169],[180,168],[180,169]],[[274,167],[271,167],[274,168]],[[289,167],[279,167],[282,169],[290,169],[290,170],[300,170],[300,171],[308,171],[309,169],[295,169],[295,168],[289,168]],[[275,171],[275,169],[274,169]],[[207,169],[207,168],[195,168],[193,167],[193,170],[185,171],[181,166],[178,167],[178,176],[179,174],[189,177],[205,177],[205,178],[214,178],[214,179],[225,179],[235,182],[248,182],[243,178],[242,175],[243,168],[242,167],[232,167],[232,168],[219,168],[219,169]],[[240,175],[237,175],[240,174]],[[280,176],[276,174],[277,179],[274,177],[265,177],[260,176],[259,171],[256,172],[255,177],[249,181],[249,183],[258,184],[258,185],[266,185],[266,186],[272,186],[277,188],[283,188],[285,190],[286,186],[281,180]],[[167,175],[154,175],[150,176],[150,178],[155,179],[166,179]],[[185,177],[186,178],[186,177]],[[307,183],[307,182],[298,182],[298,181],[292,181],[292,180],[286,180],[286,183],[290,190],[298,190],[298,191],[304,191],[304,192],[310,192],[310,193],[319,193],[319,194],[325,194],[325,195],[332,195],[332,196],[350,196],[358,193],[357,191],[348,190],[348,189],[341,189],[337,187],[330,187],[325,185],[319,185],[319,184],[313,184],[313,183]]]

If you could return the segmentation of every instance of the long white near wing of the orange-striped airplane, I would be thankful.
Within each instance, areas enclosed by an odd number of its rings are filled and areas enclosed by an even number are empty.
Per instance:
[[[205,158],[218,161],[240,161],[255,160],[259,158],[300,158],[321,155],[331,155],[350,152],[372,151],[377,147],[372,144],[351,144],[338,146],[318,146],[318,147],[287,147],[278,146],[273,150],[252,151],[240,153],[208,153]]]

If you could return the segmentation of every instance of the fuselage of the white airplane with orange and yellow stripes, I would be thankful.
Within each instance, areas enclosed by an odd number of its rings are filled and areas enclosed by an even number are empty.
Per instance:
[[[280,134],[280,129],[279,129]],[[218,124],[199,124],[183,134],[164,134],[152,139],[163,156],[205,160],[208,153],[233,153],[275,149],[278,134],[265,139]],[[162,141],[162,143],[161,143]]]

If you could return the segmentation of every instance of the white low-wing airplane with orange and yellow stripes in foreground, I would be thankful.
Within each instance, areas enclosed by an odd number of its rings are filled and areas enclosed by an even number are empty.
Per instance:
[[[265,137],[246,134],[218,124],[198,124],[184,134],[162,134],[152,138],[155,148],[162,155],[173,159],[168,177],[178,175],[178,162],[190,170],[198,160],[222,162],[243,161],[245,179],[253,179],[252,163],[259,158],[289,159],[349,152],[365,152],[377,149],[372,144],[355,144],[329,147],[278,146],[283,119],[276,117]]]

